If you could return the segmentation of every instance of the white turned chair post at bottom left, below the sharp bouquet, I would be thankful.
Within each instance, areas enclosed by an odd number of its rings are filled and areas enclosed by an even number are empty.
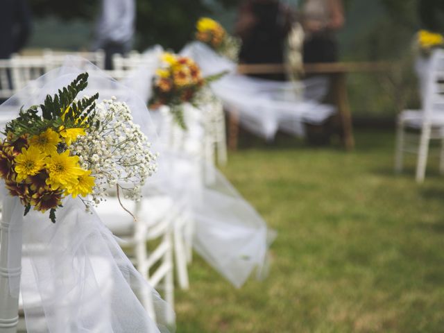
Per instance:
[[[10,216],[10,214],[8,214]],[[17,262],[8,265],[8,238],[10,224],[3,218],[0,223],[0,333],[16,333],[19,322],[19,298],[13,297],[10,293],[10,276],[19,276],[22,272],[20,256]],[[12,267],[11,267],[12,266]]]

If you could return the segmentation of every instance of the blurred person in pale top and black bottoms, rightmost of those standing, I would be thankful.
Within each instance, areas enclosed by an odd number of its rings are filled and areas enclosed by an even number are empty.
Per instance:
[[[301,10],[305,31],[304,62],[336,62],[336,31],[345,23],[341,0],[305,0]]]

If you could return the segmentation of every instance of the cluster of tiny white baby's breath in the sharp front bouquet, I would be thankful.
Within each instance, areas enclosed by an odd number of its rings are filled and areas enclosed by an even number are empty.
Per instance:
[[[124,197],[139,200],[141,186],[155,172],[157,154],[151,153],[151,144],[133,123],[126,103],[115,98],[98,103],[95,119],[98,123],[71,146],[81,157],[80,167],[91,170],[95,178],[92,200],[85,203],[98,205],[116,185]]]

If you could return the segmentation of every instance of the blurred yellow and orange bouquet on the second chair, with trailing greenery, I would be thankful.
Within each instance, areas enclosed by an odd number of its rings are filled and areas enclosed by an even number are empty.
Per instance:
[[[149,107],[157,109],[162,105],[169,106],[173,119],[186,130],[184,103],[198,106],[203,99],[203,87],[224,74],[225,72],[203,78],[200,68],[191,58],[164,53],[162,65],[153,78],[153,96],[148,102]]]

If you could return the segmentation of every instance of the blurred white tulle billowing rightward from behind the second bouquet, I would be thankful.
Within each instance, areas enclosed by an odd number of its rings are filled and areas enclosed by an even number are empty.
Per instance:
[[[327,94],[327,77],[291,83],[239,75],[234,62],[200,42],[191,42],[181,54],[196,60],[205,76],[229,72],[212,83],[214,94],[229,112],[237,113],[244,128],[264,139],[272,140],[278,130],[304,136],[305,123],[321,124],[336,112],[332,105],[320,103]]]

